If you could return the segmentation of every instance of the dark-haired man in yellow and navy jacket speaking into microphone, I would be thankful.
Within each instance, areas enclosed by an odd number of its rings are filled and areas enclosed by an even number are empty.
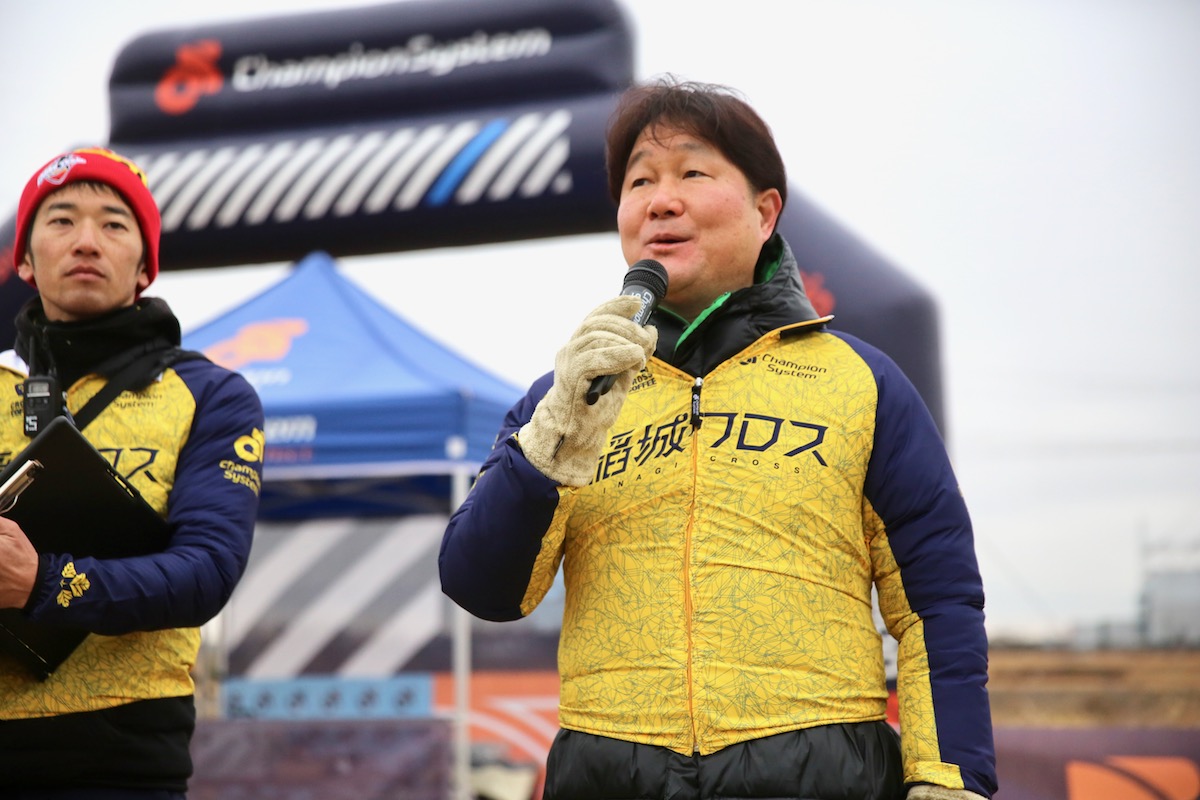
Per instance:
[[[916,389],[809,302],[769,128],[668,79],[606,152],[624,290],[509,411],[439,557],[488,620],[564,571],[544,798],[990,796],[971,521]]]

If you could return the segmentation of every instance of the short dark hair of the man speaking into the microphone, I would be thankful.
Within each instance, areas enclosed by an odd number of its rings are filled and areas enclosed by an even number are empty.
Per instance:
[[[718,84],[659,78],[620,96],[608,124],[605,161],[608,193],[620,203],[629,155],[642,131],[665,126],[715,146],[755,192],[779,190],[787,203],[787,170],[770,128],[734,90]]]

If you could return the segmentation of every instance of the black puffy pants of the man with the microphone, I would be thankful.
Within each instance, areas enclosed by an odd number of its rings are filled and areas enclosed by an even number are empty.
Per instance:
[[[886,722],[744,741],[709,756],[559,730],[542,800],[900,800],[900,736]]]

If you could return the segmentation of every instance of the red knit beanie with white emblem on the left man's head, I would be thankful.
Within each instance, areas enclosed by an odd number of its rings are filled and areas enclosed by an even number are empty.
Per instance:
[[[25,191],[20,193],[20,204],[17,206],[17,239],[12,247],[13,266],[19,267],[25,260],[29,228],[34,224],[34,216],[42,200],[50,192],[77,181],[98,181],[110,186],[125,199],[137,217],[138,227],[142,228],[146,276],[154,282],[158,276],[158,234],[162,231],[158,205],[150,194],[146,175],[142,168],[104,148],[85,148],[56,156],[29,179]]]

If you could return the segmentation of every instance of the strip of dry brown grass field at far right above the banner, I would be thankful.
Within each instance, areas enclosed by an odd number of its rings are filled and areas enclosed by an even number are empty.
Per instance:
[[[996,727],[1200,727],[1200,649],[992,648]]]

